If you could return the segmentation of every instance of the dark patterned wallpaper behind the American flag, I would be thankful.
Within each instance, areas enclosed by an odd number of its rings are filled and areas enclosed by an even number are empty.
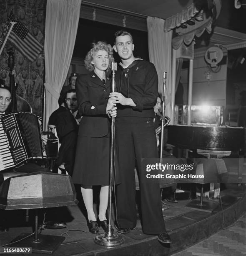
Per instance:
[[[43,46],[45,36],[46,0],[0,0],[0,35],[11,10],[16,18],[28,29]],[[0,79],[9,85],[9,68],[7,51],[15,50],[15,73],[18,87],[16,93],[27,100],[33,113],[43,116],[43,79],[44,79],[44,50],[35,61],[30,62],[15,49],[8,40],[0,56]]]

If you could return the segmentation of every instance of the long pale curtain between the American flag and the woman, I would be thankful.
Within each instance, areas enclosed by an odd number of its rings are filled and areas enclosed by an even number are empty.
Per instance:
[[[73,55],[81,0],[47,0],[45,20],[45,100],[43,127],[58,108]]]

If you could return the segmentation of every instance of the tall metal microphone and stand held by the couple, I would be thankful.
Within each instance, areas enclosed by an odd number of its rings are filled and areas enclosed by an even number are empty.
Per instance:
[[[115,71],[117,69],[117,63],[112,62],[112,92],[116,92],[116,85],[115,85]],[[111,138],[110,138],[110,185],[109,185],[109,194],[108,194],[108,204],[109,204],[109,218],[108,218],[108,225],[107,230],[104,234],[100,234],[95,236],[94,241],[95,243],[99,244],[100,246],[112,247],[117,246],[124,243],[124,238],[118,234],[114,233],[111,224],[111,212],[112,212],[112,191],[113,191],[113,160],[114,160],[114,133],[115,133],[115,118],[112,117],[111,121]]]

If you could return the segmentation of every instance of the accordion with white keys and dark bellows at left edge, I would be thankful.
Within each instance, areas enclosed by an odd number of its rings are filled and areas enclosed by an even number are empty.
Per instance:
[[[0,171],[28,159],[46,158],[42,118],[19,112],[0,117]]]

